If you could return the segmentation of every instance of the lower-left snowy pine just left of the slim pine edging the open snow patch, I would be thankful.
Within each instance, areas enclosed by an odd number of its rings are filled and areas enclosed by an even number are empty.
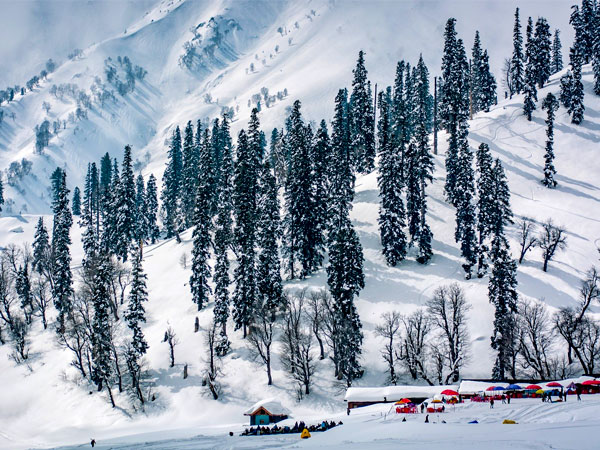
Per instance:
[[[109,314],[110,300],[110,257],[108,254],[99,254],[90,262],[86,270],[89,271],[91,286],[90,294],[94,316],[92,319],[92,380],[98,392],[106,387],[111,404],[115,401],[111,389],[111,378],[114,371],[112,362],[112,337],[111,320]]]

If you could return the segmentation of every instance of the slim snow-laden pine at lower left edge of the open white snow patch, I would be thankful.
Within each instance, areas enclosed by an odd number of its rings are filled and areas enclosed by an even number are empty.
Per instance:
[[[142,267],[142,247],[140,245],[132,254],[131,289],[129,291],[127,311],[125,311],[125,321],[131,330],[131,341],[126,351],[127,368],[131,376],[132,387],[135,389],[142,403],[144,403],[144,396],[140,388],[140,360],[148,350],[148,343],[141,327],[142,323],[146,323],[146,311],[144,309],[144,302],[148,301],[146,278]]]

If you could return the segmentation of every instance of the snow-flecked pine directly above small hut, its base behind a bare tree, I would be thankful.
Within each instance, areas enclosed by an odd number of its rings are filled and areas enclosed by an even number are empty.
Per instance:
[[[279,224],[279,199],[277,185],[269,158],[261,167],[258,197],[257,247],[257,294],[262,311],[275,312],[282,306],[283,287],[278,240],[281,235]]]

